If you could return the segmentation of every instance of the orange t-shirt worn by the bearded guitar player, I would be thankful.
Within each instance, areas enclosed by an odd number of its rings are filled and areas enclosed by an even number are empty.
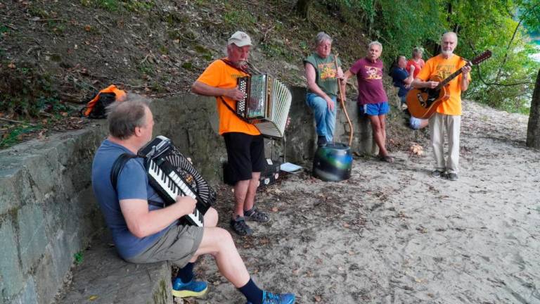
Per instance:
[[[463,68],[466,62],[460,56],[454,54],[451,58],[445,59],[441,54],[430,58],[418,73],[417,78],[428,81],[432,76],[438,75],[443,80],[451,74]],[[461,77],[462,74],[454,78],[446,86],[450,94],[450,99],[443,101],[437,107],[437,113],[446,115],[461,115]],[[470,73],[469,73],[470,82]]]

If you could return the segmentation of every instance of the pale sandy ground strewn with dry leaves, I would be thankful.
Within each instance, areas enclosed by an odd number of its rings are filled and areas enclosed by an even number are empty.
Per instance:
[[[272,220],[235,236],[240,255],[259,286],[296,303],[540,303],[540,153],[525,148],[527,119],[465,103],[457,182],[430,177],[428,147],[394,164],[355,158],[344,182],[286,177],[259,191]],[[245,303],[212,258],[195,270],[210,292],[186,303]]]

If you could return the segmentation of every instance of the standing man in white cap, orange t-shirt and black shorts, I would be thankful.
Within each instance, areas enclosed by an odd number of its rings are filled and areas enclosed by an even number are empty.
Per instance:
[[[248,76],[251,46],[248,34],[235,32],[227,44],[227,57],[211,63],[191,87],[195,94],[216,97],[219,134],[225,139],[231,175],[236,182],[231,228],[240,235],[252,234],[245,220],[269,220],[266,213],[254,207],[259,177],[265,166],[264,141],[257,127],[238,118],[234,110],[236,102],[244,97],[237,79]]]

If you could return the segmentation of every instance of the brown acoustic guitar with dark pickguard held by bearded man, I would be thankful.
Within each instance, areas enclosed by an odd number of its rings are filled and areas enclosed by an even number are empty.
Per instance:
[[[477,56],[472,61],[468,61],[466,65],[477,65],[489,57],[491,57],[491,51],[484,51],[484,53],[481,53],[480,56]],[[461,68],[456,70],[456,72],[449,77],[446,77],[444,80],[437,75],[431,77],[430,81],[439,82],[439,85],[433,89],[411,89],[409,93],[407,93],[406,97],[409,113],[416,118],[430,118],[431,115],[435,113],[435,110],[437,110],[439,104],[450,98],[450,94],[446,86],[449,84],[449,82],[451,82],[451,80],[458,77],[460,74]]]

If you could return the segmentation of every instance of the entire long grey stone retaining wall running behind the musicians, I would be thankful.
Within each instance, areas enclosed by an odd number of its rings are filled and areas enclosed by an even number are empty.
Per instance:
[[[316,148],[305,89],[293,88],[291,124],[283,141],[266,140],[266,156],[285,155],[309,167]],[[222,179],[224,141],[217,134],[215,99],[194,95],[151,104],[154,135],[162,134],[193,159],[211,184]],[[373,151],[371,131],[359,120],[354,102],[353,151]],[[338,112],[336,139],[348,141],[345,115]],[[91,191],[94,152],[106,136],[104,120],[86,129],[55,134],[0,151],[0,303],[51,303],[63,285],[75,253],[103,231],[103,219]]]

